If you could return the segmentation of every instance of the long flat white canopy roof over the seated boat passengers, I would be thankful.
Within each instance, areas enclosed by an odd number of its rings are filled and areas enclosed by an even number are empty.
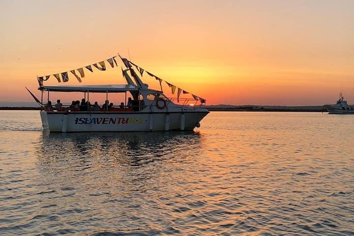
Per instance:
[[[55,92],[125,92],[138,91],[133,85],[82,85],[82,86],[43,86],[39,90]]]

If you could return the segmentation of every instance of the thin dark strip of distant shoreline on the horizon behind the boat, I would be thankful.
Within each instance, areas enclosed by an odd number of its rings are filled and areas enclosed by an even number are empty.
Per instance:
[[[327,112],[325,109],[242,109],[242,108],[208,108],[210,112]],[[0,107],[1,111],[40,111],[40,107]]]

